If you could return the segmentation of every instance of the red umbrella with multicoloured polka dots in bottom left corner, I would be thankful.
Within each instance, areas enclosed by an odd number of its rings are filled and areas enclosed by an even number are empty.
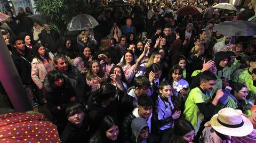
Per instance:
[[[0,115],[0,142],[60,142],[56,126],[44,115],[8,113]]]

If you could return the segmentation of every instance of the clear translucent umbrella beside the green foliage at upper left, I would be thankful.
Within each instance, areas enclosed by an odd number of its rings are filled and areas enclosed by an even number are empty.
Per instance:
[[[91,15],[78,14],[70,20],[67,29],[69,31],[77,31],[86,28],[94,28],[96,26],[99,26],[99,23]]]

